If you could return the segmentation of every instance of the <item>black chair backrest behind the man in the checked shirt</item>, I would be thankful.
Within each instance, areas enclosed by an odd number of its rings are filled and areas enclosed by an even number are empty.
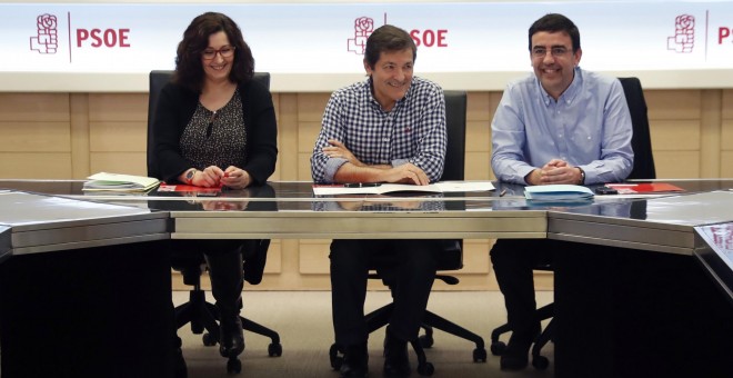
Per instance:
[[[466,93],[462,90],[446,90],[444,93],[448,148],[441,180],[463,180],[465,172]]]

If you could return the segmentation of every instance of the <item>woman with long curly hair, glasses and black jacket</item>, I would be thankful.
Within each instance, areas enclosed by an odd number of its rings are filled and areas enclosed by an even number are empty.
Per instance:
[[[252,52],[232,19],[208,12],[191,21],[153,123],[163,181],[243,189],[263,185],[272,175],[278,156],[274,107],[269,89],[252,80],[253,72]],[[248,278],[242,262],[243,252],[250,256],[245,245],[177,240],[173,246],[177,252],[204,252],[220,316],[219,351],[230,359],[244,349],[239,311]],[[263,265],[262,259],[259,269]]]

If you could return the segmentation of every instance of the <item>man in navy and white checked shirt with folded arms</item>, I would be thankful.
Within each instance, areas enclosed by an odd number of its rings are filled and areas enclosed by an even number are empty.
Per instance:
[[[366,40],[368,79],[335,91],[311,157],[313,181],[428,185],[443,173],[445,99],[435,83],[413,77],[414,41],[383,26]],[[435,276],[440,243],[430,240],[333,240],[331,290],[341,377],[368,374],[364,321],[368,267],[393,255],[394,311],[384,341],[384,375],[410,375],[408,341],[418,338]]]

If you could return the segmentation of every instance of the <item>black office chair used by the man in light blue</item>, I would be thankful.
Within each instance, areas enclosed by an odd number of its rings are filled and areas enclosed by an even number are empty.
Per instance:
[[[652,151],[652,138],[649,127],[649,117],[646,115],[646,100],[644,99],[644,91],[641,81],[637,78],[619,78],[621,87],[626,98],[629,112],[631,113],[631,125],[633,136],[631,137],[631,147],[634,151],[634,167],[629,173],[626,179],[644,180],[655,179],[656,170],[654,169],[654,156]],[[645,203],[643,203],[645,205]],[[536,266],[535,270],[552,271],[551,265]],[[539,308],[535,312],[539,320],[550,319],[554,316],[554,304],[549,304]],[[499,338],[502,334],[511,331],[512,328],[509,324],[495,328],[491,332],[491,352],[494,356],[500,356],[506,350],[506,345],[500,341]],[[552,320],[542,330],[540,336],[534,340],[532,346],[532,366],[539,370],[544,370],[550,365],[546,357],[541,355],[542,348],[552,340],[554,336],[554,324]]]

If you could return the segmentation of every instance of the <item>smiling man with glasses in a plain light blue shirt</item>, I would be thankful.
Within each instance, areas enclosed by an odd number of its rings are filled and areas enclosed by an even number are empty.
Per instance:
[[[491,123],[491,167],[522,185],[623,181],[633,168],[631,116],[617,79],[582,70],[578,27],[546,14],[529,31],[534,74],[506,86]],[[502,239],[491,250],[512,326],[503,370],[522,369],[540,331],[532,268],[552,241]]]

